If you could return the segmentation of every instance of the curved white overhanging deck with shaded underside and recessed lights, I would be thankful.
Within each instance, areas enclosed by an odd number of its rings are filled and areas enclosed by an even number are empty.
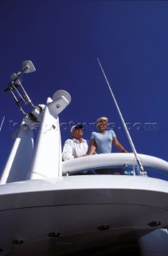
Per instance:
[[[167,182],[155,178],[29,180],[2,185],[0,194],[0,255],[126,253],[168,226]]]

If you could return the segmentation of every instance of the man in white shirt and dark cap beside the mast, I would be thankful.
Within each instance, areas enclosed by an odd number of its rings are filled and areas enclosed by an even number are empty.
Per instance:
[[[88,141],[83,137],[82,125],[72,126],[71,135],[72,139],[67,139],[64,142],[62,158],[63,161],[80,158],[88,153]]]

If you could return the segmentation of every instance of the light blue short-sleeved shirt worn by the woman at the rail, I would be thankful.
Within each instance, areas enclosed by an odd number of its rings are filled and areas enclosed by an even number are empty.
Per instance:
[[[106,130],[105,134],[100,134],[93,131],[91,134],[91,139],[94,138],[96,141],[96,153],[111,153],[112,140],[114,137],[116,137],[114,130]]]

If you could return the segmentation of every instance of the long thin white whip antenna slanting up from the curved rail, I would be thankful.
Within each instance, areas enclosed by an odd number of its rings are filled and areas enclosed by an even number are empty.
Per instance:
[[[115,102],[115,106],[116,106],[116,108],[117,108],[117,110],[118,110],[119,117],[121,118],[121,121],[122,121],[122,123],[123,123],[124,130],[125,130],[125,132],[126,132],[126,134],[127,134],[128,140],[129,140],[129,142],[130,142],[131,149],[132,149],[133,153],[135,154],[135,159],[136,159],[136,162],[137,162],[137,164],[138,164],[138,166],[139,166],[140,173],[141,173],[142,176],[146,176],[147,173],[146,173],[146,171],[143,169],[143,165],[142,165],[141,161],[139,160],[139,157],[138,157],[137,152],[136,152],[136,150],[135,150],[134,143],[132,142],[132,139],[131,139],[131,136],[130,136],[130,134],[129,134],[129,131],[127,130],[126,123],[125,123],[124,120],[123,120],[123,116],[122,116],[121,111],[119,110],[119,106],[118,106],[118,104],[117,104],[117,102],[116,102],[116,100],[115,100],[115,95],[113,94],[113,92],[112,92],[112,90],[111,90],[111,86],[110,86],[109,82],[107,81],[107,77],[106,77],[106,75],[105,75],[105,73],[104,73],[103,67],[101,66],[101,63],[100,63],[99,58],[97,58],[97,60],[98,60],[98,62],[99,62],[99,64],[100,64],[100,68],[101,68],[101,70],[102,70],[102,72],[103,72],[103,74],[104,74],[104,78],[105,78],[105,80],[106,80],[106,82],[107,82],[107,86],[108,86],[108,88],[109,88],[109,90],[110,90],[110,92],[111,92],[111,96],[112,96],[112,98],[113,98],[113,100],[114,100],[114,102]]]

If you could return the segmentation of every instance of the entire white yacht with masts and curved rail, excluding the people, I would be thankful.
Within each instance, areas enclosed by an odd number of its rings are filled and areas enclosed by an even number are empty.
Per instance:
[[[138,154],[144,173],[133,153],[62,162],[59,114],[70,102],[58,90],[21,122],[1,178],[0,256],[167,256],[168,162]]]

